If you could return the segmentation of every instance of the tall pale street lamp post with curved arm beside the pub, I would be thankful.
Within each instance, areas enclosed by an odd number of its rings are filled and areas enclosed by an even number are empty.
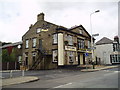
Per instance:
[[[95,13],[97,13],[97,12],[100,12],[100,10],[96,10],[96,11],[94,11],[93,13],[90,14],[92,61],[94,61],[94,55],[93,55],[93,53],[94,53],[94,51],[93,51],[94,47],[93,47],[93,46],[94,46],[94,45],[93,45],[93,35],[92,35],[92,21],[91,21],[91,17],[92,17],[93,14],[95,14]],[[93,64],[94,64],[94,63],[93,63]],[[94,69],[94,66],[93,66],[93,69]]]

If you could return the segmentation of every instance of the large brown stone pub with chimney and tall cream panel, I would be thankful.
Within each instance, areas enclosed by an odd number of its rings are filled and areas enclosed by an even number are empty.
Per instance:
[[[85,64],[91,36],[82,25],[67,29],[44,20],[44,13],[23,35],[22,60],[27,69],[53,69]]]

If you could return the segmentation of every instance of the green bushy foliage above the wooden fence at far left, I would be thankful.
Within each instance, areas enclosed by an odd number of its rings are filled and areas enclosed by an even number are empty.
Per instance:
[[[15,49],[12,49],[11,54],[9,55],[7,49],[2,50],[2,62],[11,62],[16,60]]]

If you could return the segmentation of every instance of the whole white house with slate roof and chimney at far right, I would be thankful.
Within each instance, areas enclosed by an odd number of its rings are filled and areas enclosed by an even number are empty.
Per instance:
[[[114,40],[103,37],[96,42],[95,57],[98,64],[120,64],[119,37]]]

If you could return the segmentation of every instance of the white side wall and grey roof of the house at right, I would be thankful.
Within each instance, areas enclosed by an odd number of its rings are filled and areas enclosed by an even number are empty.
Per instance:
[[[95,58],[97,64],[111,64],[110,54],[113,52],[113,40],[103,37],[95,43]]]

